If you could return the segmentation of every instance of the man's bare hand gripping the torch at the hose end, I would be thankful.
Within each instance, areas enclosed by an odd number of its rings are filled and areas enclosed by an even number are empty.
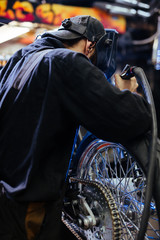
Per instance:
[[[131,92],[136,92],[138,83],[135,77],[132,77],[130,80],[124,80],[119,74],[115,74],[115,86],[120,90],[128,89]]]

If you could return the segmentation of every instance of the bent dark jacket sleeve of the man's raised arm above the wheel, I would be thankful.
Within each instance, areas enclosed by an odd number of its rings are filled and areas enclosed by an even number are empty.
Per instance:
[[[63,104],[80,125],[97,137],[123,143],[150,129],[150,106],[145,99],[112,86],[85,56],[69,54],[63,69],[64,77],[58,84]]]

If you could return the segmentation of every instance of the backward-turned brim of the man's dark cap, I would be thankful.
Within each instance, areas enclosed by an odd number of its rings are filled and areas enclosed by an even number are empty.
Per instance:
[[[58,30],[58,31],[51,30],[51,31],[48,31],[48,33],[58,39],[64,39],[64,40],[81,38],[80,34],[77,34],[75,32],[68,31],[68,30]]]

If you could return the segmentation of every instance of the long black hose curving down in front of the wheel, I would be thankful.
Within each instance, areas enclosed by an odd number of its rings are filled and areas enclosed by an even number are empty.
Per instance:
[[[151,142],[149,148],[149,168],[147,175],[147,185],[145,191],[145,203],[143,214],[141,218],[140,230],[138,233],[137,240],[142,240],[145,237],[145,233],[147,231],[148,220],[150,216],[150,203],[152,199],[152,189],[153,189],[153,181],[154,181],[154,169],[156,162],[156,147],[157,147],[157,118],[156,118],[156,110],[154,105],[154,100],[151,92],[151,88],[149,82],[146,78],[146,75],[142,68],[134,67],[133,72],[137,79],[137,82],[142,86],[145,97],[151,106],[151,114],[152,114],[152,135]]]

